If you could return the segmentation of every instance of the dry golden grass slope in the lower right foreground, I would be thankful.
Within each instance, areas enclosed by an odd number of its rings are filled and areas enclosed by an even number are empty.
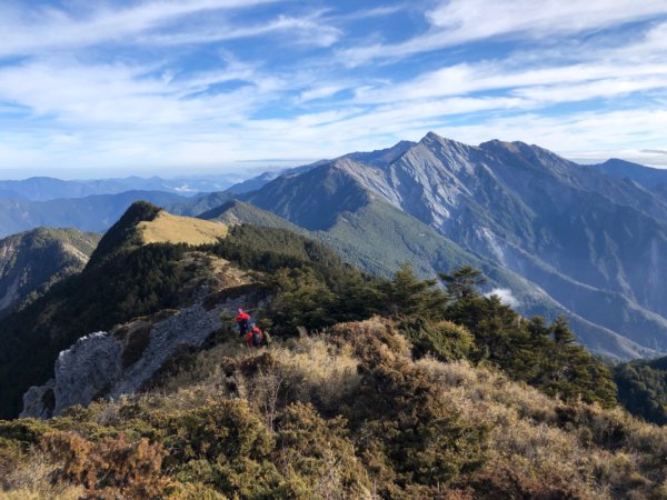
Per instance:
[[[621,409],[566,407],[465,361],[422,359],[417,364],[428,370],[467,421],[490,424],[488,471],[511,463],[526,477],[559,478],[587,499],[667,498],[665,474],[650,478],[653,483],[646,476],[659,469],[656,459],[667,457],[666,428],[644,423]],[[564,409],[578,416],[573,423],[563,423]],[[617,430],[617,444],[600,446]],[[651,497],[645,494],[648,490]]]

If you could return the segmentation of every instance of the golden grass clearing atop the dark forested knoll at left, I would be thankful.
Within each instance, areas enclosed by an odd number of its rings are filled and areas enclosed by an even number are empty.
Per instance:
[[[228,228],[218,222],[172,216],[161,211],[155,220],[138,226],[145,243],[208,244],[225,238]]]

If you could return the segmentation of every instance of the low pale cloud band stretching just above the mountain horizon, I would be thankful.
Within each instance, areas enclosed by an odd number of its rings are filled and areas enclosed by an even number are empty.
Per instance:
[[[4,168],[219,168],[239,171],[238,161],[258,158],[331,158],[354,150],[371,150],[400,139],[418,140],[426,130],[468,143],[492,137],[538,143],[567,158],[603,160],[625,158],[667,167],[664,154],[640,152],[640,138],[651,148],[667,149],[661,131],[667,112],[595,112],[579,117],[547,118],[489,114],[475,126],[447,127],[431,118],[431,107],[402,107],[376,113],[332,111],[298,119],[242,118],[211,123],[138,127],[109,124],[99,130],[72,132],[62,139],[60,129],[17,131],[0,138],[0,164]],[[618,123],[624,123],[619,128]],[[70,141],[68,144],[67,142]],[[76,141],[76,142],[74,142]],[[80,144],[72,147],[72,142]],[[650,161],[648,161],[650,160]],[[306,161],[305,161],[306,162]],[[275,162],[270,162],[273,163]]]

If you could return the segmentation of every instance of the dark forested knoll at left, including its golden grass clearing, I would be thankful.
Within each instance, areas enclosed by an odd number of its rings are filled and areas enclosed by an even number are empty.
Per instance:
[[[161,213],[146,202],[132,204],[101,239],[82,272],[62,280],[41,299],[0,322],[2,417],[18,414],[22,394],[51,377],[59,352],[77,339],[137,317],[192,304],[219,259],[242,257],[243,266],[257,270],[286,263],[301,266],[311,260],[321,272],[347,269],[331,250],[290,232],[242,228],[228,231],[225,226],[197,219],[171,218],[168,227],[176,236],[183,233],[176,227],[179,222],[185,224],[185,232],[192,227],[205,227],[207,231],[219,228],[219,232],[209,233],[215,238],[206,242],[205,247],[212,246],[207,252],[195,250],[199,247],[181,238],[147,243],[147,227],[159,223],[163,229]],[[225,244],[217,248],[212,241],[219,238]],[[248,238],[257,239],[257,243],[246,249]],[[201,247],[201,241],[195,243]]]

